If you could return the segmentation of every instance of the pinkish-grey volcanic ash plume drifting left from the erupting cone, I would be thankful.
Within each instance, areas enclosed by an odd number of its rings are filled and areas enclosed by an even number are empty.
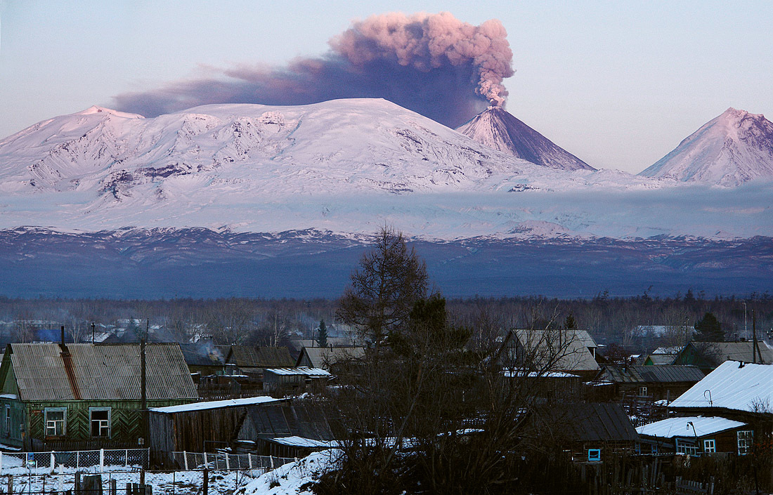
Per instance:
[[[325,56],[288,66],[223,70],[115,97],[121,110],[154,117],[206,103],[295,105],[381,97],[455,127],[507,97],[512,51],[497,20],[475,26],[448,12],[374,15],[335,36]]]

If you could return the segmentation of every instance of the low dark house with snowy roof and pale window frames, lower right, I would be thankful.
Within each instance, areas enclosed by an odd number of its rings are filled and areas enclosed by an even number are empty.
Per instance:
[[[636,429],[642,453],[698,454],[736,453],[751,448],[747,423],[717,416],[682,416],[662,419]]]

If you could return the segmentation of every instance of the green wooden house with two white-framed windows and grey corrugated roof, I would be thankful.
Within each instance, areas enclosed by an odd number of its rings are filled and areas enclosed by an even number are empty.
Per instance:
[[[138,446],[139,344],[9,344],[0,365],[0,443],[28,451]],[[147,406],[197,399],[179,344],[145,346]]]

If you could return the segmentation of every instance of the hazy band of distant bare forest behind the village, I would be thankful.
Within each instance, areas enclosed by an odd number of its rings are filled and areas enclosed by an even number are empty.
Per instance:
[[[314,338],[320,320],[325,320],[330,337],[346,333],[348,329],[336,321],[336,309],[337,301],[324,299],[0,297],[0,343],[40,340],[36,331],[61,326],[71,341],[90,342],[94,323],[95,332],[103,337],[117,333],[123,341],[138,340],[148,327],[156,340],[187,342],[211,336],[217,344],[282,345],[295,338]],[[758,338],[773,337],[773,297],[768,293],[714,299],[692,291],[674,297],[600,293],[573,300],[475,297],[448,300],[447,309],[454,324],[492,338],[508,328],[557,327],[571,316],[576,327],[589,331],[600,344],[615,344],[632,353],[683,345],[696,321],[707,313],[717,317],[727,341],[751,338],[755,319]],[[648,328],[652,326],[660,327],[659,333]]]

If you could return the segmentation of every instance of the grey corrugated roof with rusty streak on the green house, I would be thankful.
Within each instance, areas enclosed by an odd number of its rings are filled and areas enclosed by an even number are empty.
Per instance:
[[[22,400],[141,399],[138,344],[67,344],[69,364],[59,344],[10,348]],[[145,356],[148,399],[198,397],[179,344],[148,344]]]

